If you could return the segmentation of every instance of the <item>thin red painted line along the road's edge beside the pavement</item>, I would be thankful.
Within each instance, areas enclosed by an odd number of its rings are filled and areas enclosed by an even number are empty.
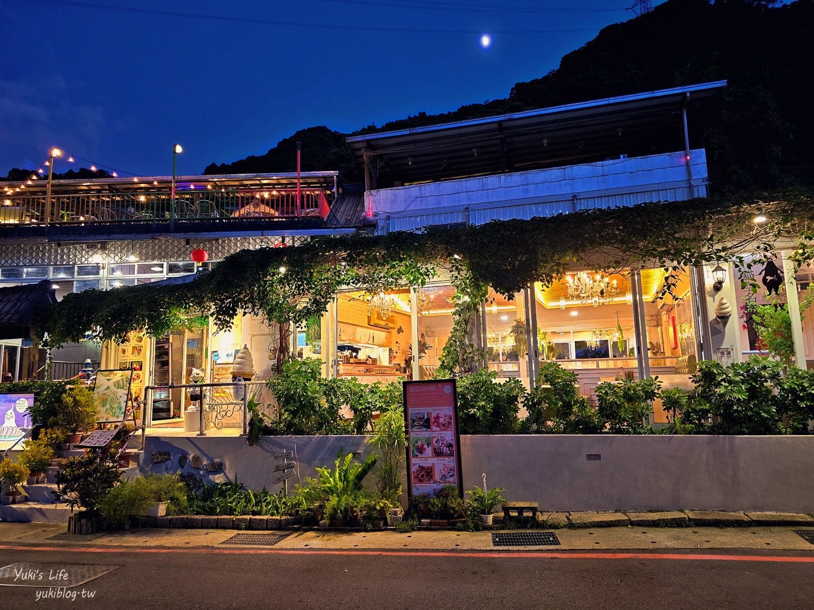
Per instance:
[[[63,551],[71,553],[217,553],[218,555],[326,555],[391,557],[481,557],[488,559],[579,559],[579,560],[700,560],[765,561],[781,564],[814,564],[814,556],[693,555],[689,553],[563,553],[518,551],[349,551],[343,549],[267,549],[267,548],[143,548],[143,547],[24,547],[0,545],[2,551]]]

